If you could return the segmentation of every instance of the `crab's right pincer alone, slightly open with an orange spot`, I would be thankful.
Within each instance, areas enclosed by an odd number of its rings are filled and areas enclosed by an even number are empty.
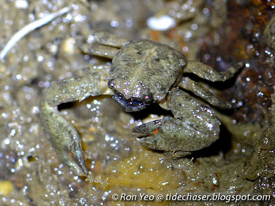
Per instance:
[[[208,131],[199,130],[192,122],[173,117],[164,117],[142,124],[133,128],[132,131],[147,136],[137,139],[142,146],[153,150],[169,151],[174,159],[210,146],[219,138],[219,129],[215,131],[217,135],[213,137]]]

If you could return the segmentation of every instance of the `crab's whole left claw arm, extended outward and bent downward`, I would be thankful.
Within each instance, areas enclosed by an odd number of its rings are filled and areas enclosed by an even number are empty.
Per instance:
[[[65,102],[82,101],[85,98],[108,93],[107,78],[91,73],[83,78],[67,78],[51,83],[41,101],[41,119],[49,135],[50,143],[58,157],[74,174],[87,174],[81,140],[74,126],[57,111],[56,106]]]

